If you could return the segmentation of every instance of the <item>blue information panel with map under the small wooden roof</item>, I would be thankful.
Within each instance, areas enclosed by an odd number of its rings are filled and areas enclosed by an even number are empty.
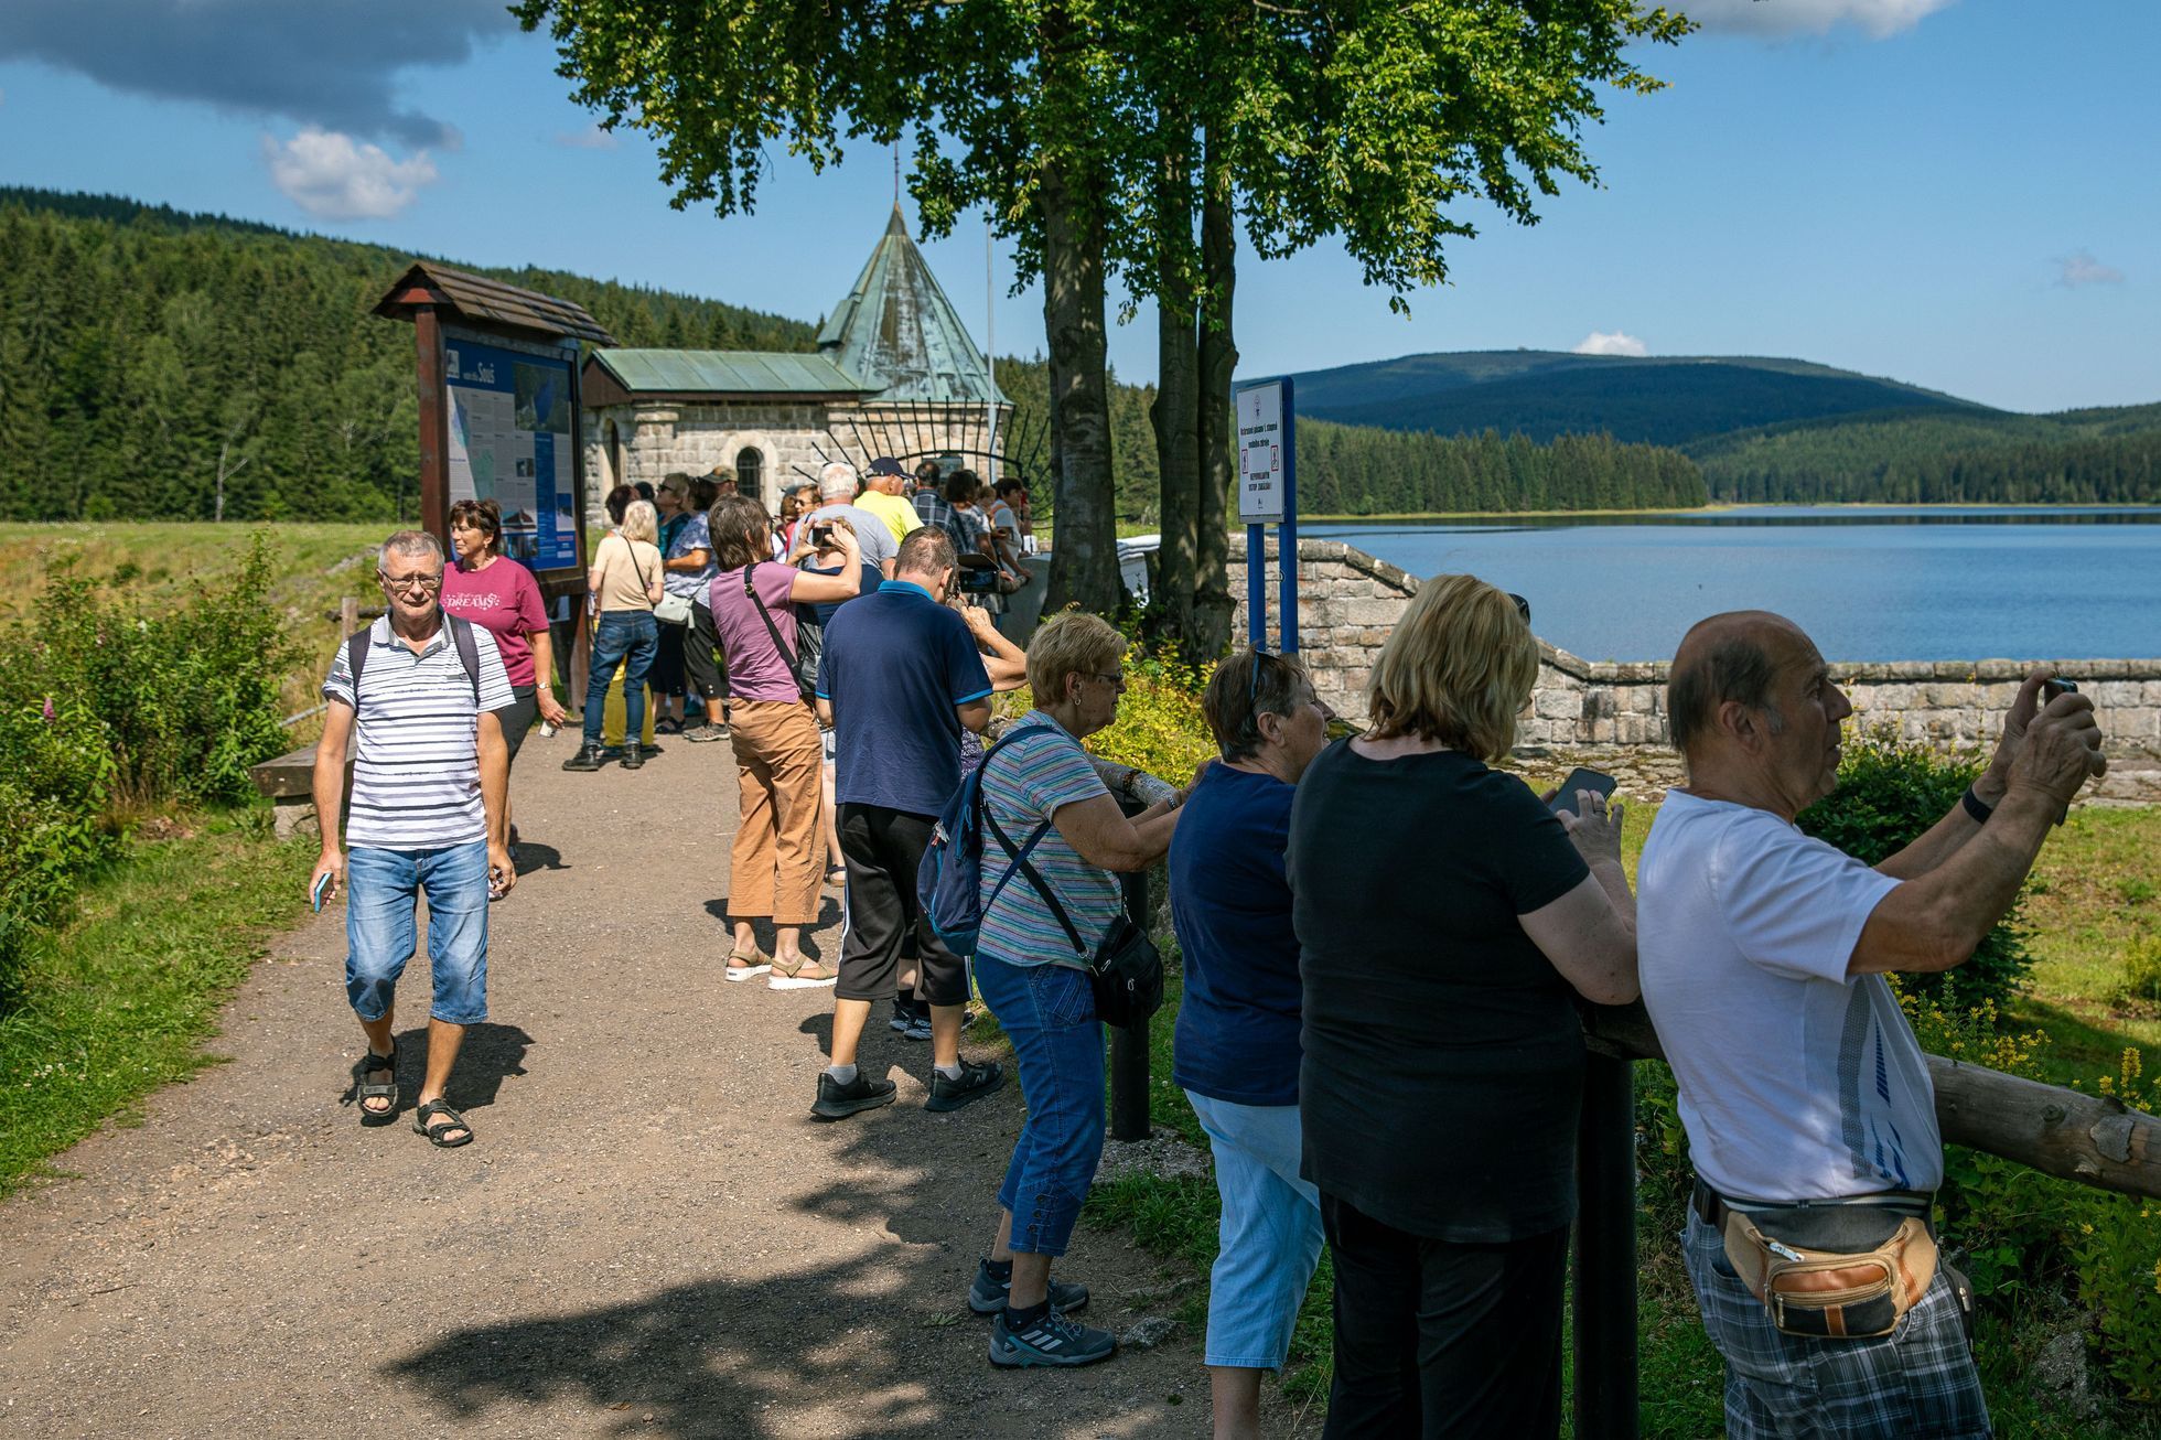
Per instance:
[[[443,339],[449,502],[493,499],[504,554],[536,571],[577,569],[573,361]]]

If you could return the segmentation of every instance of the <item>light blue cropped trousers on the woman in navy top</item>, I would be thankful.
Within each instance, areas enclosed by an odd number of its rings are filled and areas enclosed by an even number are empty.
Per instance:
[[[1299,1178],[1299,1107],[1186,1092],[1217,1159],[1221,1250],[1208,1271],[1206,1364],[1279,1371],[1320,1263],[1320,1191]]]

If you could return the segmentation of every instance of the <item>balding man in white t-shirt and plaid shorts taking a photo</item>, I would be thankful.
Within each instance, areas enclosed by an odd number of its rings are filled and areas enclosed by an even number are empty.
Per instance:
[[[1930,1228],[1928,1057],[1884,975],[1964,964],[2107,768],[2092,701],[2049,690],[2027,677],[1973,787],[1871,869],[1794,824],[1837,785],[1852,714],[1809,636],[1718,614],[1673,659],[1688,785],[1645,841],[1636,947],[1696,1165],[1683,1250],[1735,1440],[1992,1434]]]

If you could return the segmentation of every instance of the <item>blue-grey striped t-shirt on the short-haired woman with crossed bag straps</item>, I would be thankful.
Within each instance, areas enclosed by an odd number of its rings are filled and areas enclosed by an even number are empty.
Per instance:
[[[1050,735],[1039,731],[1050,731]],[[1020,724],[1005,733],[983,770],[983,804],[1014,845],[1026,845],[1035,826],[1050,819],[1061,804],[1109,794],[1080,742],[1039,709],[1029,711]],[[985,899],[1009,861],[1005,845],[985,835]],[[1083,861],[1057,826],[1050,826],[1029,854],[1029,865],[1065,906],[1065,917],[1080,932],[1080,943],[1093,954],[1126,908],[1117,876]],[[1042,893],[1029,884],[1026,876],[1018,874],[983,908],[981,949],[1009,964],[1087,964],[1085,956],[1074,954],[1065,928],[1044,904]]]

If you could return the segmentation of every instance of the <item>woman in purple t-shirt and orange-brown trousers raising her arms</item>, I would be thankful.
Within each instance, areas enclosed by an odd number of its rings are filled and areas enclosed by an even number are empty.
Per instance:
[[[711,512],[720,575],[709,592],[713,631],[728,657],[728,739],[735,746],[739,819],[728,867],[735,949],[728,979],[771,977],[774,990],[830,986],[836,971],[804,958],[802,928],[817,923],[826,874],[819,774],[826,746],[795,681],[795,605],[854,599],[862,586],[856,536],[834,530],[847,556],[838,575],[774,564],[774,521],[748,495],[722,495]],[[759,951],[754,919],[774,921],[774,954]]]

